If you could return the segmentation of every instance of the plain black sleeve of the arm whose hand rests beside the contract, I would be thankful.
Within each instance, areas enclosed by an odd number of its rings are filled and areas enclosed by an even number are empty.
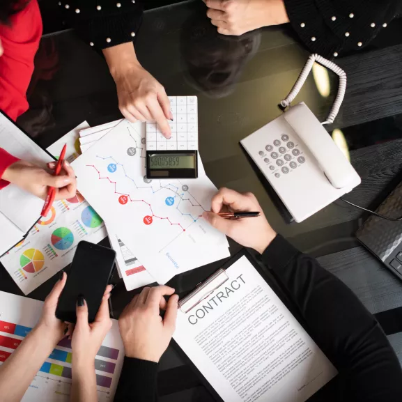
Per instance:
[[[114,402],[155,402],[157,363],[125,357]]]

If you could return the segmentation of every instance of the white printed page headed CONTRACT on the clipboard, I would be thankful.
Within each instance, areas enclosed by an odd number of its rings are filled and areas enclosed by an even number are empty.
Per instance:
[[[225,402],[304,402],[337,370],[245,256],[173,338]]]

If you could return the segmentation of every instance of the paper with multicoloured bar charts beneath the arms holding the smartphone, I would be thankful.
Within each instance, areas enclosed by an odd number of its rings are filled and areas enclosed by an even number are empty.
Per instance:
[[[43,302],[0,291],[0,364],[3,364],[38,323]],[[123,366],[124,348],[117,320],[95,357],[98,401],[112,401]],[[69,402],[71,392],[71,341],[63,339],[33,378],[22,402]],[[26,362],[27,364],[29,362]]]

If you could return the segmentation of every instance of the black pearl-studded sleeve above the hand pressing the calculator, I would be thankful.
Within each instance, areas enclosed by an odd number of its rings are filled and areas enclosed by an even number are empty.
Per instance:
[[[61,0],[65,23],[88,45],[105,49],[132,42],[142,20],[141,0]]]

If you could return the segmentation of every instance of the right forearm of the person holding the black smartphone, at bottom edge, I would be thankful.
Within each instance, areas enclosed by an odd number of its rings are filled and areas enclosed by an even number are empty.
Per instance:
[[[95,362],[77,362],[72,354],[71,402],[97,402]]]

